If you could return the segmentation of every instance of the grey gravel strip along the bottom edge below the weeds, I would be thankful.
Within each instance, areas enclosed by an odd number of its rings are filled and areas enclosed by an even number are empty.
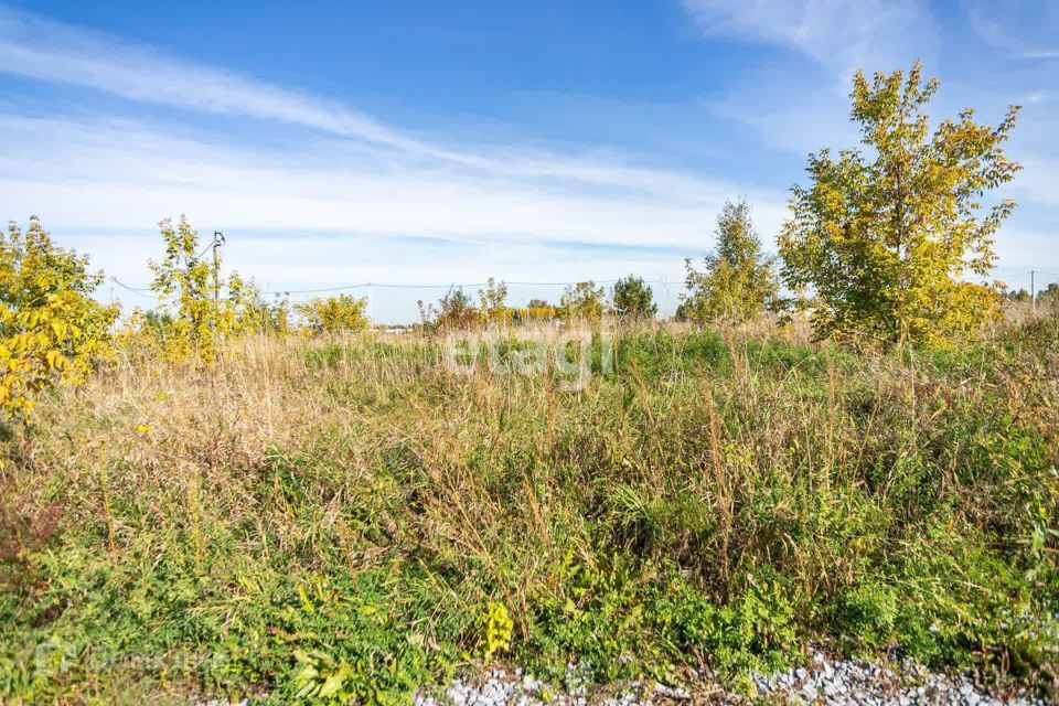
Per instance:
[[[414,706],[646,706],[678,704],[944,704],[953,706],[1045,706],[1025,691],[998,695],[975,685],[966,676],[931,672],[907,661],[880,666],[859,660],[831,660],[816,653],[807,666],[755,680],[756,698],[720,687],[688,693],[661,684],[632,683],[624,688],[588,692],[550,688],[521,670],[493,670],[479,680],[461,678],[439,696],[420,695]]]

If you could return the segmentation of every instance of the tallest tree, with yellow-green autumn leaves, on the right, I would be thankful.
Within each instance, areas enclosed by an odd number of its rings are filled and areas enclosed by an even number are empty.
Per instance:
[[[939,343],[973,334],[997,310],[996,288],[969,277],[988,276],[994,235],[1014,207],[981,200],[1019,169],[1002,150],[1018,108],[997,126],[966,108],[931,130],[924,109],[938,86],[919,62],[907,77],[877,73],[869,83],[858,72],[852,118],[867,154],[811,154],[810,186],[792,191],[783,278],[815,291],[819,338]]]

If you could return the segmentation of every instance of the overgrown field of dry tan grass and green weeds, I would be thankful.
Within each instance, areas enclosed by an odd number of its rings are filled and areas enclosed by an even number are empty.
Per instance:
[[[0,700],[400,703],[494,661],[739,685],[811,642],[1047,689],[1057,343],[651,329],[580,391],[429,338],[119,361],[4,428]]]

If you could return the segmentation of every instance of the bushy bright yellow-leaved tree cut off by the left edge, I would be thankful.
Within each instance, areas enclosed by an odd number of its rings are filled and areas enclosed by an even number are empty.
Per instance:
[[[0,414],[24,418],[38,393],[81,383],[108,357],[118,310],[92,298],[101,282],[36,216],[0,236]]]

